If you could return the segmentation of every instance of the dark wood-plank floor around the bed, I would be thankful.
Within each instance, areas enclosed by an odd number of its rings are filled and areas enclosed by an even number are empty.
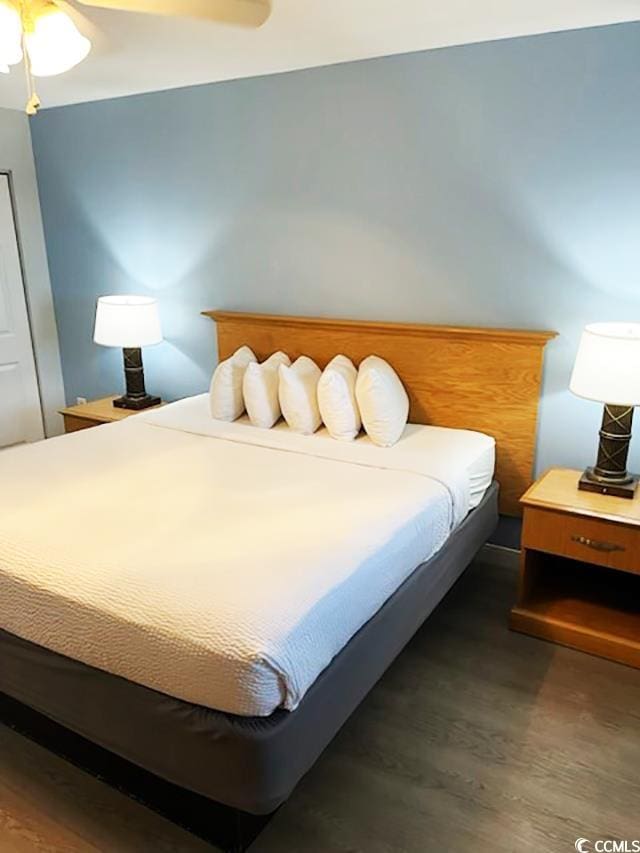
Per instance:
[[[507,630],[476,562],[252,853],[541,853],[640,838],[640,671]],[[212,849],[0,727],[0,853]]]

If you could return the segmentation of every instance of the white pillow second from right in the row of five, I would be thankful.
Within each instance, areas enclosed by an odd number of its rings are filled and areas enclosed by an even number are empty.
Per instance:
[[[318,382],[318,405],[332,438],[352,441],[360,432],[360,409],[356,400],[358,371],[346,355],[337,355],[325,367]]]

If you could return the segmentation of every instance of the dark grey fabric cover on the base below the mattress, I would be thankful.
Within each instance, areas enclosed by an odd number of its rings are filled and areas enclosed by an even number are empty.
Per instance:
[[[498,519],[493,484],[445,546],[352,637],[292,712],[190,705],[0,630],[0,692],[181,787],[253,814],[291,794],[460,577]]]

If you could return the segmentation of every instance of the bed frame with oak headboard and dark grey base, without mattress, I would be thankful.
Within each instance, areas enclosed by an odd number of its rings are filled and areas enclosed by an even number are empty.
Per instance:
[[[320,364],[338,352],[356,362],[371,353],[387,358],[409,390],[414,421],[496,436],[505,483],[500,506],[517,511],[519,490],[531,477],[542,351],[551,333],[208,314],[218,322],[221,358],[242,344],[260,358],[283,349]],[[0,630],[0,719],[188,828],[206,835],[202,827],[212,824],[209,840],[224,849],[244,850],[266,819],[256,815],[287,799],[460,577],[497,518],[494,483],[295,711],[245,718],[190,705]],[[179,802],[184,807],[176,813]]]

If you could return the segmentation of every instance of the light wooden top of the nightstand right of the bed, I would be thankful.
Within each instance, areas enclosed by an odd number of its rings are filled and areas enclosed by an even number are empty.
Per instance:
[[[581,492],[581,474],[571,468],[550,468],[525,492],[521,503],[640,527],[640,492],[633,500]]]

